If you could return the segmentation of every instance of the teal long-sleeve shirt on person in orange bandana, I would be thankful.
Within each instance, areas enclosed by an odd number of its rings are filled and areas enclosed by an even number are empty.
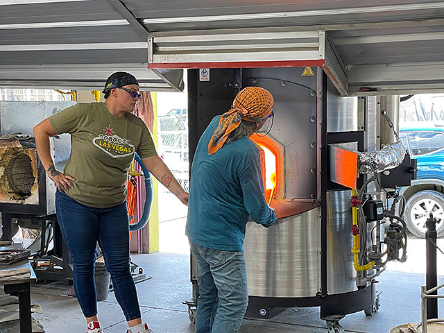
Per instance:
[[[196,148],[186,234],[206,248],[241,251],[248,217],[269,226],[276,215],[264,198],[259,150],[248,137],[208,155],[208,143],[219,119],[212,119]]]

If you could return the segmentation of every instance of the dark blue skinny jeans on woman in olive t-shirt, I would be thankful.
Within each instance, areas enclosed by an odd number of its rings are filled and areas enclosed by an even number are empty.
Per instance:
[[[106,194],[104,194],[106,195]],[[96,242],[110,272],[117,302],[126,320],[140,318],[139,301],[130,273],[130,230],[126,203],[94,208],[56,193],[57,219],[74,266],[74,289],[85,317],[96,316],[94,283]]]

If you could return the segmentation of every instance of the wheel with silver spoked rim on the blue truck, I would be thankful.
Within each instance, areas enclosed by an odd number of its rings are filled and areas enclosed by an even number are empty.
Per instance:
[[[437,237],[444,235],[444,195],[438,191],[419,191],[407,200],[404,219],[409,231],[421,238],[425,238],[427,228],[425,221],[432,213],[438,221],[436,223]]]

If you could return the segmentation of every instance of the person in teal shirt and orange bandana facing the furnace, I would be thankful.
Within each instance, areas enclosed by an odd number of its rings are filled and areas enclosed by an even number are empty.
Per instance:
[[[234,333],[244,317],[246,223],[250,218],[268,228],[276,220],[264,198],[259,149],[249,137],[273,117],[273,105],[266,89],[246,87],[198,142],[186,228],[200,277],[196,333]]]

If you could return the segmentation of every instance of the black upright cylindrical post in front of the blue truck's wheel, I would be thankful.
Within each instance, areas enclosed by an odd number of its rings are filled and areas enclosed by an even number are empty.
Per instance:
[[[429,219],[425,222],[427,231],[425,232],[426,240],[426,277],[425,284],[426,290],[430,290],[438,285],[438,275],[436,273],[436,219],[433,218],[433,214],[430,213]],[[437,295],[438,292],[434,291],[432,295]],[[427,319],[438,318],[438,299],[427,299]]]

